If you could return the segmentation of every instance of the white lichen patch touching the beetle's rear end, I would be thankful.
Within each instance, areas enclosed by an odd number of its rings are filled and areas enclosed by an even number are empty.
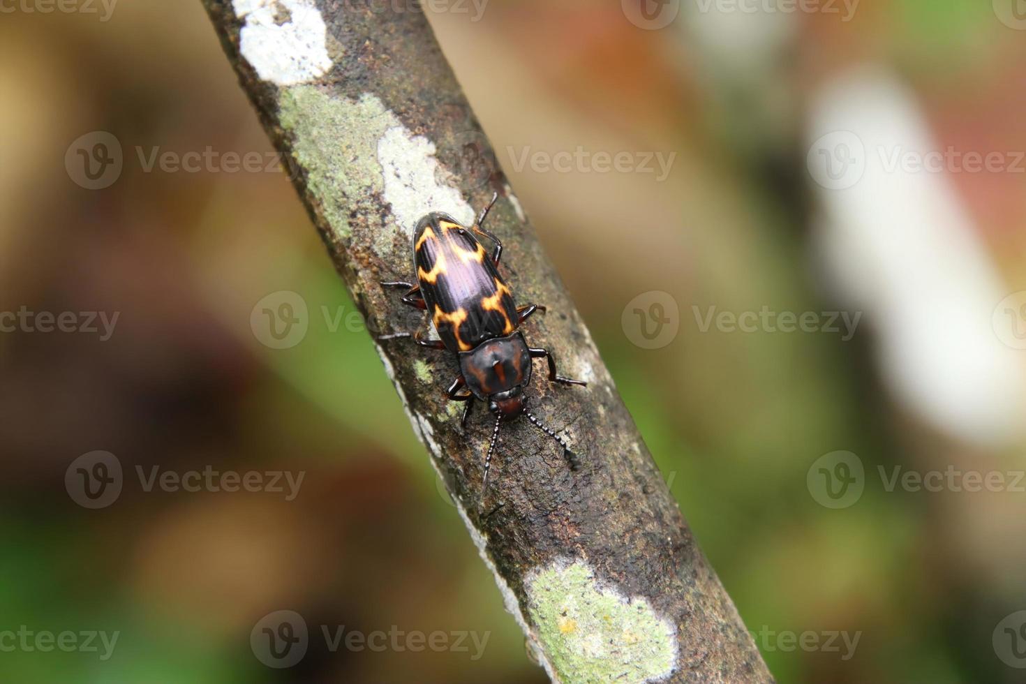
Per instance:
[[[393,126],[378,142],[378,161],[385,174],[385,200],[399,229],[410,239],[417,222],[430,211],[444,211],[464,225],[474,223],[474,209],[445,180],[449,174],[435,159],[435,145]]]

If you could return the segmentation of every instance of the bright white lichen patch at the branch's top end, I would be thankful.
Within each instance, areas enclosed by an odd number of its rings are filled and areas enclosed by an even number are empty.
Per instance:
[[[239,51],[265,81],[308,83],[331,69],[327,27],[313,0],[233,0],[232,8],[244,22]]]

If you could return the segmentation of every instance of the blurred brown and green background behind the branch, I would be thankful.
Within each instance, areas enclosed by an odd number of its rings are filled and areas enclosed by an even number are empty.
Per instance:
[[[662,28],[630,0],[430,16],[778,679],[1024,681],[1026,299],[1004,297],[1026,290],[1026,8],[676,4]],[[0,682],[545,681],[286,175],[224,158],[147,170],[155,151],[272,152],[200,4],[48,6],[0,16],[0,312],[118,319],[108,339],[0,333]],[[881,176],[871,162],[854,191],[828,187],[816,140],[863,124],[868,155],[889,139],[1007,163]],[[75,171],[93,131],[123,151],[100,190]],[[675,156],[665,178],[517,163],[579,147]],[[307,331],[272,349],[260,303],[281,291]],[[676,309],[659,349],[632,341],[629,303],[652,292]],[[704,326],[712,307],[861,319],[851,338],[744,332]],[[123,486],[89,510],[71,467],[96,450]],[[842,474],[838,451],[863,467],[861,495],[831,507],[820,465]],[[304,480],[286,500],[148,491],[136,474],[208,466]],[[1007,486],[887,486],[951,469]],[[249,639],[282,609],[311,637],[276,670]],[[332,651],[322,626],[487,641]],[[119,636],[103,659],[10,647],[25,630]]]

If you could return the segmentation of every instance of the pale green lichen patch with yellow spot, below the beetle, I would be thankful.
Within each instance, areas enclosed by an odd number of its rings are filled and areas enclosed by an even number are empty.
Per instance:
[[[673,673],[673,623],[646,599],[601,586],[584,561],[535,570],[526,590],[538,640],[562,681],[640,684]]]

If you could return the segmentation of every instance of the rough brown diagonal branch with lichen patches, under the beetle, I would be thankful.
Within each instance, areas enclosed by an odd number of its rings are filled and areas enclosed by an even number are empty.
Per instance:
[[[536,372],[536,413],[579,455],[525,419],[506,426],[479,502],[492,421],[444,397],[452,355],[378,343],[507,609],[553,681],[773,681],[699,551],[580,315],[495,161],[417,3],[203,0],[354,301],[378,334],[425,320],[380,285],[412,277],[413,226],[432,210],[489,217],[524,324],[563,374]],[[511,107],[521,107],[522,103]],[[541,367],[538,368],[542,370]],[[331,381],[325,378],[325,381]]]

